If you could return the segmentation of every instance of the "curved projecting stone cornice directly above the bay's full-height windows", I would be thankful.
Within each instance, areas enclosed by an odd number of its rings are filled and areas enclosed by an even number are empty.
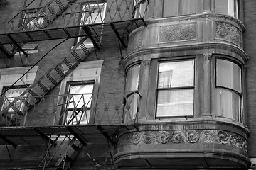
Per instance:
[[[235,59],[240,60],[240,62],[243,64],[245,64],[245,62],[248,60],[246,53],[234,45],[230,45],[224,42],[209,42],[192,45],[177,45],[171,47],[148,46],[139,48],[133,52],[130,52],[126,57],[124,57],[124,67],[127,68],[130,64],[140,60],[151,60],[161,57],[186,57],[202,55],[206,52],[210,52],[213,55],[216,54],[234,57]]]

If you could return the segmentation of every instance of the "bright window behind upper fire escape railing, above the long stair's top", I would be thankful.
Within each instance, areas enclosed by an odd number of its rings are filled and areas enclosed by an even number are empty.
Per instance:
[[[82,6],[82,16],[80,25],[88,25],[92,23],[103,23],[105,21],[105,13],[106,13],[106,4],[105,3],[95,3],[95,4],[85,4]],[[84,30],[79,30],[79,35],[83,35]],[[78,42],[82,38],[78,38]],[[93,47],[92,41],[90,38],[85,40],[85,45],[87,47]]]

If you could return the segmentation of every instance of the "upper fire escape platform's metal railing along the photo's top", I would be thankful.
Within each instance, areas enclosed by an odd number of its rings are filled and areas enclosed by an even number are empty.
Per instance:
[[[8,26],[2,26],[1,29],[4,30],[1,33],[145,18],[148,3],[146,0],[96,0],[82,3],[63,1],[61,6],[56,3],[36,8],[26,6],[21,11],[14,11],[14,16],[10,13],[9,17],[4,18],[6,21],[3,23],[8,23]]]

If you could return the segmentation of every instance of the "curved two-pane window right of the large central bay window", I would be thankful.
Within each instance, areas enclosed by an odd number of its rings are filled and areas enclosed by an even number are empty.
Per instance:
[[[241,68],[228,60],[216,62],[216,111],[219,116],[242,122]]]

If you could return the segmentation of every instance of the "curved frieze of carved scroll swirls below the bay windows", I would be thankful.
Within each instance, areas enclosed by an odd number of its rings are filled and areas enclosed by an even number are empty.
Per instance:
[[[218,143],[247,151],[247,141],[242,137],[222,130],[174,130],[131,132],[119,137],[118,146],[180,143]]]

